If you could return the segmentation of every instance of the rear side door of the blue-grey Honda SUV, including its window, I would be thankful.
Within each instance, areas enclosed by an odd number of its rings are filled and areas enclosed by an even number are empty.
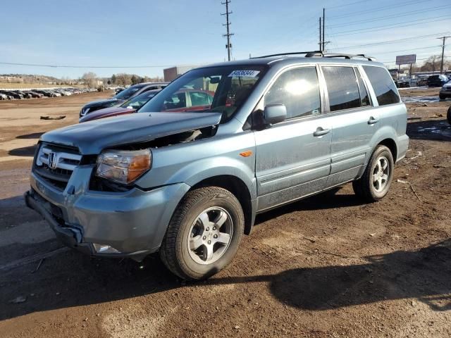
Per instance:
[[[328,115],[332,124],[328,187],[354,180],[371,156],[371,137],[378,130],[378,112],[357,66],[324,65]]]

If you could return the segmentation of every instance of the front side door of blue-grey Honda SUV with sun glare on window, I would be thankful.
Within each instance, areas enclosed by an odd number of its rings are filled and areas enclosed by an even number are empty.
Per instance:
[[[284,104],[287,120],[254,132],[258,211],[294,201],[326,186],[331,126],[321,115],[319,68],[289,68],[278,75],[260,102]]]

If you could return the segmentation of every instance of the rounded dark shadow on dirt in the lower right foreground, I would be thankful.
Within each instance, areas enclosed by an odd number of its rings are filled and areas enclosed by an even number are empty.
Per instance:
[[[393,299],[451,310],[451,239],[417,251],[365,257],[369,263],[285,270],[277,275],[227,277],[211,283],[268,282],[279,301],[309,311]]]

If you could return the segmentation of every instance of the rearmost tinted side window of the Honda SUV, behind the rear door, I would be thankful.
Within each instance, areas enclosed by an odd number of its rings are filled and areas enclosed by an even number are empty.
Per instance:
[[[364,65],[363,67],[374,89],[379,106],[400,102],[395,82],[393,82],[392,77],[385,68],[371,65]]]

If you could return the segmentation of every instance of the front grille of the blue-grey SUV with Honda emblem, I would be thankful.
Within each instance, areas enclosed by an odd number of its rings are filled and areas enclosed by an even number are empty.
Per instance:
[[[42,144],[37,152],[33,171],[54,187],[63,190],[81,159],[78,149]]]

